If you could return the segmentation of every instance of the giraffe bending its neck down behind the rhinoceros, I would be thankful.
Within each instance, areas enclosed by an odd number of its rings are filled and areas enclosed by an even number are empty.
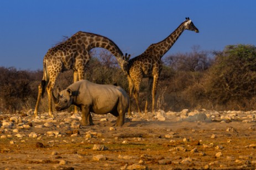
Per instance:
[[[44,95],[45,86],[48,92],[49,116],[53,116],[53,88],[60,72],[65,70],[74,70],[74,82],[84,79],[85,65],[90,61],[89,51],[95,47],[102,47],[110,51],[118,61],[122,71],[128,74],[129,56],[123,56],[122,51],[112,40],[105,36],[92,34],[90,32],[76,32],[66,41],[50,48],[43,60],[43,79],[38,86],[38,99],[34,110],[35,116],[38,116],[38,107],[41,96]],[[75,108],[77,112],[77,108]]]

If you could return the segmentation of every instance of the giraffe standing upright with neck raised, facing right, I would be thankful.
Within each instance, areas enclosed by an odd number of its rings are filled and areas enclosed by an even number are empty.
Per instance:
[[[134,57],[128,62],[129,74],[127,79],[129,82],[129,97],[130,100],[133,97],[138,107],[138,112],[142,116],[142,112],[139,108],[139,89],[143,78],[149,78],[148,80],[148,96],[145,102],[145,113],[148,112],[148,100],[152,94],[152,113],[155,111],[155,94],[156,86],[158,84],[159,76],[161,73],[161,57],[174,45],[176,40],[182,34],[184,30],[191,30],[199,32],[196,26],[192,23],[189,18],[186,18],[184,22],[178,26],[178,28],[171,33],[166,39],[158,43],[153,43],[147,50],[137,57]],[[150,94],[151,93],[151,94]],[[131,101],[128,109],[128,115],[131,115],[130,111]]]

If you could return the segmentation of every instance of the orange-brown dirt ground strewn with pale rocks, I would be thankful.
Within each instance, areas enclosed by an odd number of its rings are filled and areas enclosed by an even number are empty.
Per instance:
[[[0,169],[256,169],[256,112],[0,114]]]

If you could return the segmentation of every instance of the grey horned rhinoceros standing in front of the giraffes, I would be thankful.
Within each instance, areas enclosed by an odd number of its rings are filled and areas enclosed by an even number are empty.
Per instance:
[[[93,125],[90,112],[96,114],[111,113],[117,117],[117,126],[124,124],[124,117],[129,107],[129,96],[119,86],[95,84],[88,80],[80,80],[68,86],[58,96],[53,94],[57,111],[71,105],[80,107],[82,125]]]

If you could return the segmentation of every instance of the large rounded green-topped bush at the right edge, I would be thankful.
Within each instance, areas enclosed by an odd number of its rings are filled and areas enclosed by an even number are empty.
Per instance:
[[[255,96],[256,47],[230,45],[216,56],[215,63],[205,75],[206,94],[218,105],[239,101],[244,108]]]

